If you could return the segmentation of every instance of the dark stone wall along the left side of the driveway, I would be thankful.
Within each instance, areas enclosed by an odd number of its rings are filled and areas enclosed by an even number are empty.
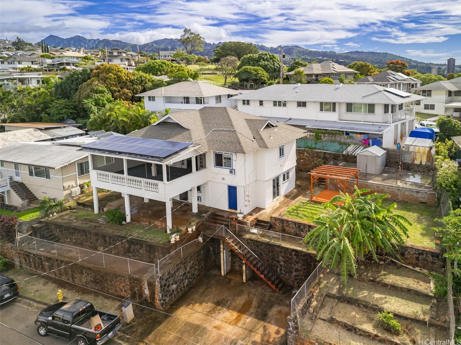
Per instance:
[[[207,273],[214,264],[214,259],[211,258],[212,246],[211,242],[203,243],[195,253],[157,276],[155,301],[158,308],[168,309]]]

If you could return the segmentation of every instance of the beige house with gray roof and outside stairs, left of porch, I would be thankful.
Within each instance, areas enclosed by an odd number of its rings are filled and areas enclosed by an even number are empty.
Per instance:
[[[79,147],[16,143],[1,149],[0,199],[26,207],[43,197],[71,200],[89,181],[88,154]]]

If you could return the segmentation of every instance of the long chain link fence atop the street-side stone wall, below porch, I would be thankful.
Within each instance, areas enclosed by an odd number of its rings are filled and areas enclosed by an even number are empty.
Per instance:
[[[47,253],[55,255],[56,258],[71,259],[74,262],[81,262],[95,265],[101,268],[118,271],[131,276],[155,278],[155,264],[149,264],[138,260],[123,258],[104,252],[73,247],[67,244],[42,240],[27,235],[18,237],[18,248],[29,252]]]

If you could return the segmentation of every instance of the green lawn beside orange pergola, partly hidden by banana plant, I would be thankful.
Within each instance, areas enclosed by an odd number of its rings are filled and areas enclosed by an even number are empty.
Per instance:
[[[388,207],[394,201],[385,200],[383,206]],[[424,203],[411,203],[406,201],[396,201],[397,207],[394,209],[396,214],[401,214],[407,218],[412,225],[408,226],[409,242],[416,246],[434,248],[435,234],[432,227],[437,226],[434,218],[437,217],[437,207],[429,206]],[[299,219],[305,222],[312,222],[320,214],[328,212],[322,207],[322,204],[313,203],[307,200],[299,200],[292,206],[288,207],[283,217]]]

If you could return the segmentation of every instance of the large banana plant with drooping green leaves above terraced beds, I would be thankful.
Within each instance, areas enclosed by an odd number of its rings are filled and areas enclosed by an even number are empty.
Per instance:
[[[317,227],[303,240],[308,242],[309,249],[315,248],[317,259],[323,260],[324,267],[335,269],[340,266],[344,283],[349,273],[356,277],[357,260],[371,254],[378,261],[377,252],[395,256],[394,249],[405,245],[402,235],[408,238],[405,224],[411,223],[392,212],[396,203],[382,208],[383,199],[389,195],[373,193],[362,196],[369,191],[355,186],[351,196],[340,192],[339,196],[323,204],[332,212],[321,214],[314,220]]]

